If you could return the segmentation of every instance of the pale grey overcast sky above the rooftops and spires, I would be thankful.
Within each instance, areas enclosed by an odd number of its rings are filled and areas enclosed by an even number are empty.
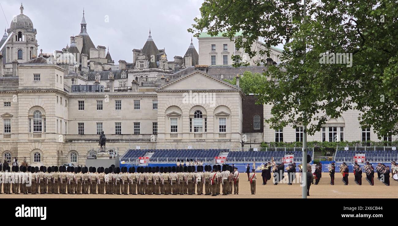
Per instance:
[[[109,46],[115,63],[132,62],[133,49],[141,49],[148,39],[149,28],[158,49],[166,48],[168,60],[183,56],[191,42],[193,18],[199,17],[203,0],[23,0],[23,14],[37,29],[36,39],[43,53],[61,50],[70,44],[70,36],[80,33],[83,8],[87,32],[94,45]],[[21,3],[0,0],[4,15],[0,27],[10,27],[14,16],[20,14]],[[3,14],[3,12],[0,12]],[[109,18],[109,22],[106,21]],[[4,28],[3,28],[4,29]],[[2,33],[3,34],[3,33]],[[198,50],[198,41],[193,38]]]

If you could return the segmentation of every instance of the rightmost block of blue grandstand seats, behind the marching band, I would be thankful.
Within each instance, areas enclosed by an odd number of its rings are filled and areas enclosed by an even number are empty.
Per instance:
[[[350,162],[353,161],[355,154],[365,154],[366,161],[391,162],[398,159],[398,150],[384,150],[384,148],[375,148],[373,150],[337,150],[335,161]]]

